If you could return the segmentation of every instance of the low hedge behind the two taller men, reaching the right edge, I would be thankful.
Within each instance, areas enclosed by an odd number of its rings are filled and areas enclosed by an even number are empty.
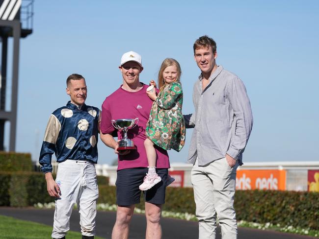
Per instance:
[[[99,203],[115,204],[115,187],[99,187]],[[137,208],[144,209],[144,199]],[[319,230],[319,193],[296,191],[236,191],[237,220],[279,223]],[[195,214],[192,188],[167,188],[163,210]]]

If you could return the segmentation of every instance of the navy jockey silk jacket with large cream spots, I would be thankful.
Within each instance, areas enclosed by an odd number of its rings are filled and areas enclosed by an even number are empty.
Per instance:
[[[71,101],[55,110],[49,118],[41,147],[39,163],[41,171],[52,172],[51,159],[56,161],[98,161],[98,133],[100,110],[83,104],[78,107]]]

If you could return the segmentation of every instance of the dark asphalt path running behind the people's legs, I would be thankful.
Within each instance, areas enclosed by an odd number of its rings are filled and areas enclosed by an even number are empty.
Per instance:
[[[53,225],[53,210],[34,208],[8,208],[0,207],[0,215],[12,216],[22,220],[29,220],[47,225]],[[110,239],[112,228],[115,222],[115,212],[98,211],[96,223],[98,236]],[[70,230],[80,232],[80,216],[74,210],[70,219]],[[193,221],[185,221],[172,218],[162,218],[161,225],[163,239],[197,239],[198,224]],[[130,227],[130,239],[145,238],[146,220],[144,215],[133,215]],[[50,235],[48,235],[50,238]],[[288,233],[263,231],[250,228],[239,228],[238,239],[314,239],[314,237],[299,236]],[[220,231],[216,239],[221,239]]]

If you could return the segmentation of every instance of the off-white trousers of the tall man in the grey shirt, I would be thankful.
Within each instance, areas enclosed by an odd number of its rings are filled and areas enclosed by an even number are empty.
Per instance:
[[[199,239],[215,239],[216,216],[222,239],[237,239],[234,209],[236,170],[238,162],[230,167],[226,158],[202,167],[197,160],[191,170],[191,182],[199,224]]]

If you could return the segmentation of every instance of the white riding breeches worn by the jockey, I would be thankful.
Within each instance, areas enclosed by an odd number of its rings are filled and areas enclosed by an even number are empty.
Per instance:
[[[70,230],[70,216],[75,203],[80,213],[82,235],[94,236],[99,197],[94,164],[77,160],[59,163],[55,182],[60,187],[61,196],[55,199],[52,237],[62,238]]]

